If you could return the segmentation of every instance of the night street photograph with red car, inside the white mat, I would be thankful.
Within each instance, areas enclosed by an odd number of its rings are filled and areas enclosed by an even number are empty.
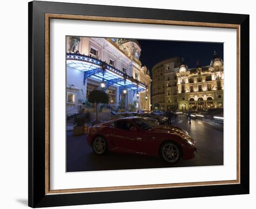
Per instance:
[[[219,42],[67,35],[66,172],[223,166],[223,55]]]

